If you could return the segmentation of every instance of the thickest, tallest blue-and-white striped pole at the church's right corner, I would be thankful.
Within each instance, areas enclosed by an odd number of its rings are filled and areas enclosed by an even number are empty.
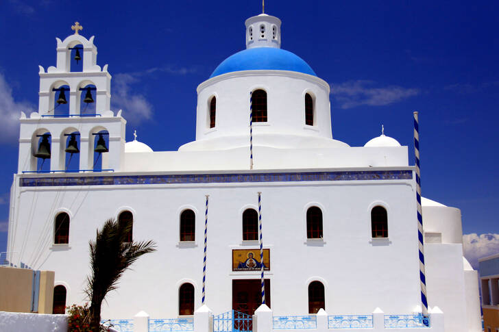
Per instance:
[[[419,279],[421,281],[421,302],[423,322],[428,325],[428,299],[426,298],[426,277],[424,270],[423,211],[421,207],[421,169],[419,168],[419,123],[414,112],[414,153],[416,156],[416,200],[417,200],[417,238],[419,240]]]

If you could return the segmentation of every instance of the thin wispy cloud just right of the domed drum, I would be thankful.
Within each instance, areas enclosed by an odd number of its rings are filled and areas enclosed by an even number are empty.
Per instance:
[[[332,84],[332,96],[343,110],[360,105],[389,105],[417,94],[419,94],[419,90],[415,88],[403,88],[402,86],[378,87],[376,81],[365,79]]]

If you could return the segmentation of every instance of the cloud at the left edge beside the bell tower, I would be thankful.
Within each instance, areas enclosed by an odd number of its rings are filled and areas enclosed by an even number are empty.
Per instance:
[[[34,106],[26,101],[14,101],[12,88],[0,73],[0,143],[15,142],[19,138],[21,111],[29,114]]]

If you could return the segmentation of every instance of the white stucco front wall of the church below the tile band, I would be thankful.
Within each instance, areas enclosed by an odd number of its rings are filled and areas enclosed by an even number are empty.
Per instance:
[[[153,318],[174,317],[181,283],[192,281],[196,307],[201,302],[202,216],[204,195],[210,194],[206,301],[220,313],[232,307],[228,291],[232,279],[259,277],[259,272],[232,272],[231,254],[234,248],[258,248],[256,242],[242,241],[241,214],[245,207],[256,207],[256,192],[261,191],[264,247],[271,250],[271,270],[266,276],[271,280],[276,314],[308,312],[307,287],[313,280],[324,282],[326,309],[331,314],[363,314],[376,307],[387,313],[411,313],[419,303],[412,184],[388,180],[95,186],[62,191],[22,188],[16,204],[29,208],[18,210],[17,227],[31,229],[27,238],[18,231],[9,245],[19,251],[25,238],[23,261],[29,263],[40,254],[34,267],[56,270],[56,279],[69,285],[67,303],[78,303],[84,298],[88,274],[88,240],[106,218],[131,207],[134,238],[155,240],[158,251],[141,257],[134,270],[125,273],[119,290],[104,305],[103,315],[126,318],[145,310]],[[388,210],[387,241],[371,238],[370,209],[376,204]],[[322,241],[306,240],[306,207],[310,205],[322,208]],[[195,244],[179,244],[178,220],[186,206],[196,212]],[[53,246],[53,218],[62,207],[73,216],[69,245]],[[36,246],[40,235],[43,245]]]

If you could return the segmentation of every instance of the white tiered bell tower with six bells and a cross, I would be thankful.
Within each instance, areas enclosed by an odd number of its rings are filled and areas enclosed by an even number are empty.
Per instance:
[[[47,71],[39,66],[38,112],[29,117],[21,112],[18,173],[121,168],[126,120],[121,110],[116,116],[110,110],[108,65],[97,65],[94,36],[80,35],[83,27],[78,22],[71,29],[74,33],[64,40],[56,38],[56,66]]]

